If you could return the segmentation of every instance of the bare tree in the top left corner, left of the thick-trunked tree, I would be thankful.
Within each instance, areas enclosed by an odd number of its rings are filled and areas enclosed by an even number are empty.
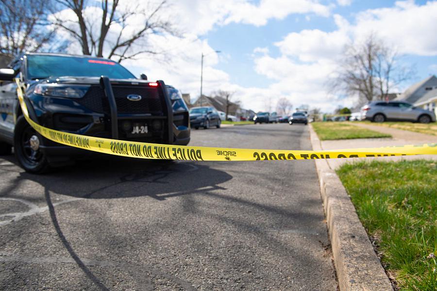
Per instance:
[[[53,49],[50,46],[55,35],[49,27],[47,5],[50,1],[0,0],[0,54],[3,58],[11,60],[25,51]]]

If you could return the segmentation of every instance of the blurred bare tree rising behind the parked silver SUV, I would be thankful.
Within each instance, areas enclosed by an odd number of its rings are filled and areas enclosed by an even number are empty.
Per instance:
[[[413,68],[399,64],[396,50],[374,34],[361,44],[346,47],[344,55],[331,88],[367,101],[386,99],[392,89],[414,76]]]

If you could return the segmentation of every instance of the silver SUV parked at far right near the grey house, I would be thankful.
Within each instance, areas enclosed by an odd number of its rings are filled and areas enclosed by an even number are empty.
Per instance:
[[[361,108],[362,119],[373,122],[411,121],[420,123],[436,122],[432,111],[417,108],[403,101],[373,101]]]

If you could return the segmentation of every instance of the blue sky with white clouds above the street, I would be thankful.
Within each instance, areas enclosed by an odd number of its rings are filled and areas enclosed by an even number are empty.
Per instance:
[[[341,60],[344,46],[376,32],[403,55],[400,65],[415,65],[417,74],[394,88],[437,73],[437,2],[381,0],[178,0],[173,19],[183,37],[162,40],[173,53],[171,66],[150,58],[126,62],[189,93],[235,92],[243,107],[275,107],[287,98],[295,107],[308,104],[325,112],[357,105],[356,96],[329,92],[327,81]],[[217,55],[214,50],[220,50]]]

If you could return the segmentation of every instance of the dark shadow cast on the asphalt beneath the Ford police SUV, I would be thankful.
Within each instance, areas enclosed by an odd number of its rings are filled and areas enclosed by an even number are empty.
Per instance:
[[[15,162],[15,161],[11,161]],[[168,197],[223,189],[232,176],[204,162],[150,161],[105,157],[58,168],[46,175],[20,172],[48,191],[80,198]]]

